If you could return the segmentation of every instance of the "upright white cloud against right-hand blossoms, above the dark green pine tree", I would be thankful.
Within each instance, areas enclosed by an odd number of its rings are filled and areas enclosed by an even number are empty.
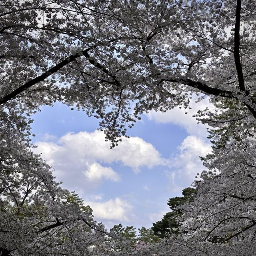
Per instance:
[[[199,156],[209,154],[212,148],[209,142],[190,135],[183,140],[178,150],[179,153],[170,160],[170,166],[174,171],[167,172],[173,192],[190,186],[196,174],[206,169]]]

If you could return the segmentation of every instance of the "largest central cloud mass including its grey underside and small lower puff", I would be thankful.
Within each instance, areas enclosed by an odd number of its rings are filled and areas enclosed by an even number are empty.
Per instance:
[[[36,142],[34,152],[42,153],[42,158],[56,169],[57,179],[72,190],[74,186],[92,190],[103,179],[119,181],[119,175],[106,164],[119,162],[139,172],[142,166],[152,168],[164,163],[154,146],[142,138],[122,140],[118,147],[110,149],[103,132],[69,132],[55,142]]]

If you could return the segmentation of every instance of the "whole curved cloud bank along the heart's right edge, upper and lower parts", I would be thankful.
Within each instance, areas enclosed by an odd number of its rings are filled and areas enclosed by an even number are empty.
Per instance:
[[[211,152],[211,144],[206,140],[208,132],[206,125],[198,124],[193,115],[198,110],[208,108],[211,112],[216,110],[215,106],[209,102],[208,98],[195,102],[196,96],[192,96],[190,107],[192,109],[180,109],[176,107],[165,113],[150,111],[148,118],[157,123],[172,123],[186,129],[190,136],[186,137],[178,147],[178,154],[170,158],[169,166],[172,169],[166,170],[166,175],[170,180],[172,192],[181,192],[187,186],[190,186],[197,173],[206,170],[199,156],[205,156]],[[188,114],[184,114],[187,111]]]

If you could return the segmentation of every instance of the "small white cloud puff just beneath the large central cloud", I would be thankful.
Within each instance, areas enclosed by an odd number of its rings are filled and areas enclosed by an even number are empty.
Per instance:
[[[119,181],[120,178],[116,172],[113,171],[111,167],[102,167],[98,163],[92,164],[88,170],[84,172],[85,176],[89,180],[101,180],[102,178],[106,178],[112,181]]]

